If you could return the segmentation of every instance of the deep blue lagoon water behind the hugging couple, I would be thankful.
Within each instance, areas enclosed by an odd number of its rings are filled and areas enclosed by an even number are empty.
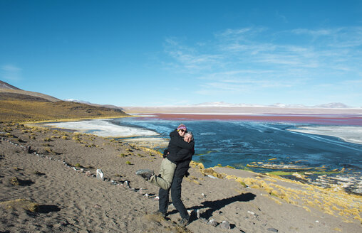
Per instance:
[[[235,120],[186,121],[154,117],[113,119],[110,122],[149,129],[166,138],[178,124],[184,123],[195,135],[196,153],[192,159],[204,163],[205,167],[232,166],[259,173],[274,170],[316,172],[320,175],[314,174],[309,180],[304,180],[316,184],[331,183],[331,180],[327,182],[321,178],[323,174],[329,174],[329,177],[339,175],[348,183],[346,188],[361,192],[361,144],[349,143],[333,136],[289,131],[299,126],[318,126],[316,124]],[[341,170],[343,172],[339,173]],[[335,180],[334,183],[338,181]]]

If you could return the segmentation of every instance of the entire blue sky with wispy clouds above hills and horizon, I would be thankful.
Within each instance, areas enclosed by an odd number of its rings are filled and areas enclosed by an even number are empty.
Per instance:
[[[0,0],[0,80],[59,99],[362,107],[362,1]]]

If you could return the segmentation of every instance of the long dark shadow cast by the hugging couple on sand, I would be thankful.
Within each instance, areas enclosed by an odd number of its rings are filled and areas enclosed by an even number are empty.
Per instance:
[[[205,212],[203,212],[200,217],[204,217],[205,219],[209,219],[209,217],[211,217],[212,213],[220,210],[221,208],[233,203],[233,202],[249,202],[251,200],[254,200],[254,198],[256,197],[256,195],[254,195],[253,193],[243,193],[241,195],[237,195],[234,197],[227,197],[221,200],[213,200],[213,201],[205,201],[205,202],[201,202],[202,205],[197,205],[194,207],[190,207],[188,208],[189,210],[198,210],[198,209],[202,209],[205,208],[207,209]],[[175,214],[177,213],[177,210],[172,210],[172,212],[170,212],[169,214]]]

